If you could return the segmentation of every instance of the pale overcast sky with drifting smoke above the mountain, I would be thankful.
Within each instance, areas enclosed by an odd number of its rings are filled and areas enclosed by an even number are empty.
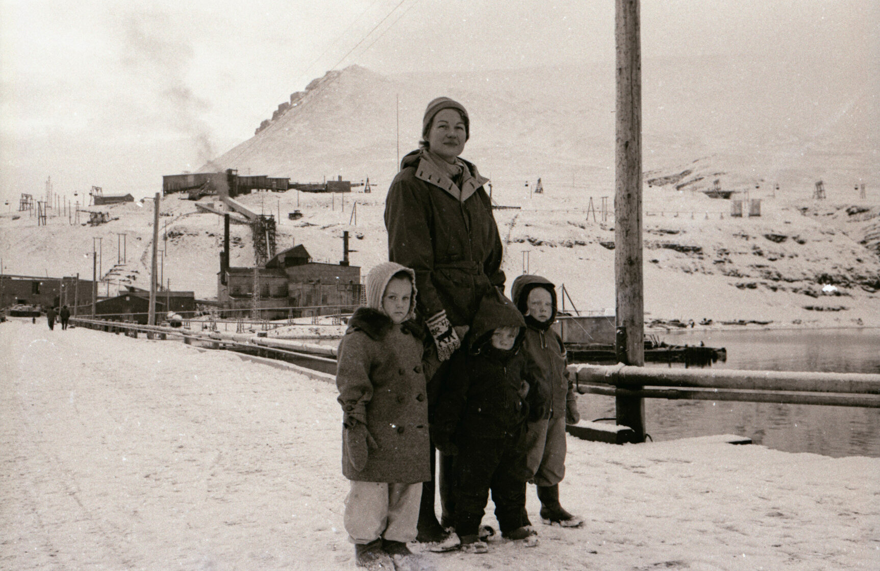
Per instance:
[[[152,194],[326,70],[611,59],[613,23],[612,0],[0,0],[0,196]],[[642,0],[645,60],[831,55],[876,81],[878,47],[876,0]]]

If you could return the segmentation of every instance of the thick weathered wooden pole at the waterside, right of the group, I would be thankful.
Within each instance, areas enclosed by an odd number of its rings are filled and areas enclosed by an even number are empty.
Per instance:
[[[618,361],[643,366],[642,282],[642,48],[639,0],[616,0],[614,39],[617,125],[614,183],[614,276]],[[638,388],[638,387],[636,387]],[[616,397],[617,423],[645,440],[644,399]]]

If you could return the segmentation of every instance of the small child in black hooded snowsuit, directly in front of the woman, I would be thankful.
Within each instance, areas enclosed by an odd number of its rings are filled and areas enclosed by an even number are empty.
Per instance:
[[[455,531],[461,549],[484,553],[478,538],[491,490],[502,536],[537,545],[525,512],[526,421],[544,406],[520,355],[525,323],[509,299],[484,296],[466,341],[469,349],[452,357],[447,387],[437,402],[432,439],[455,455]]]

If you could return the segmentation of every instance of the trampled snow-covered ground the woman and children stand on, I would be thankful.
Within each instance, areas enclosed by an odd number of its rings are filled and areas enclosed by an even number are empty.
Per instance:
[[[85,329],[0,325],[0,568],[353,569],[334,384]],[[581,399],[589,399],[582,396]],[[583,529],[439,570],[880,568],[880,458],[568,437]],[[538,522],[538,502],[528,510]],[[486,523],[494,523],[491,508]]]

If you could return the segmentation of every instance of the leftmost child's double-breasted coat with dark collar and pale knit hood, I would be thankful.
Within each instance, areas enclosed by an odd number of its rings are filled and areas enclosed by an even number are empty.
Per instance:
[[[385,287],[400,271],[414,277],[393,262],[370,271],[369,305],[357,308],[340,342],[336,386],[343,418],[363,422],[378,444],[360,471],[342,447],[342,474],[348,479],[402,484],[430,479],[425,329],[412,320],[415,289],[407,321],[395,325],[381,310]]]

